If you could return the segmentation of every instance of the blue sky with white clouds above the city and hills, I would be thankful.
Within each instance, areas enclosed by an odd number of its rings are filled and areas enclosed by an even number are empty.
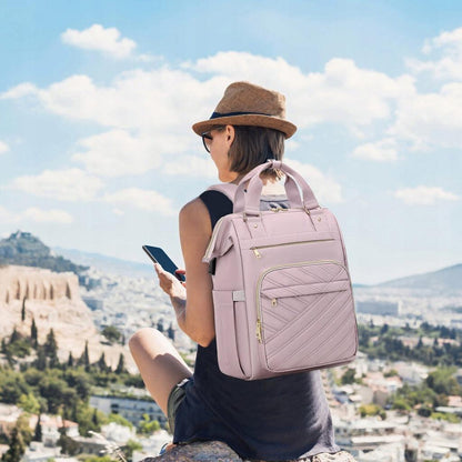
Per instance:
[[[224,88],[282,91],[287,160],[341,223],[354,282],[462,261],[459,1],[0,2],[0,234],[181,264],[217,182],[191,131]]]

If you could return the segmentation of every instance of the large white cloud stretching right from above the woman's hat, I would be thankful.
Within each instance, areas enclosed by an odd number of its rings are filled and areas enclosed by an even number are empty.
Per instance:
[[[415,92],[410,76],[393,79],[340,58],[331,59],[323,72],[308,74],[282,58],[235,51],[219,52],[184,67],[282,91],[288,97],[288,119],[301,128],[338,122],[354,131],[375,120],[389,119],[390,102]]]

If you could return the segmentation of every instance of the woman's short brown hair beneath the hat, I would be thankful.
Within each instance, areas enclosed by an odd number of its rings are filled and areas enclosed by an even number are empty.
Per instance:
[[[268,159],[282,160],[285,135],[282,131],[263,127],[233,125],[234,140],[228,152],[230,170],[248,173]],[[265,170],[264,177],[280,178],[274,170]]]

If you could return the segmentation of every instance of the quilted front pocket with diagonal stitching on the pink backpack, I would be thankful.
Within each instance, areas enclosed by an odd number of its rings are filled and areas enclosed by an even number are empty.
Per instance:
[[[268,269],[257,297],[259,340],[270,371],[319,369],[355,355],[354,302],[348,271],[339,262]]]

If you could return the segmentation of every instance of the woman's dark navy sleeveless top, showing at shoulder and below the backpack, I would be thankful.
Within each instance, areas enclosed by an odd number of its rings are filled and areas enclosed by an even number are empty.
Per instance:
[[[219,191],[205,191],[200,199],[212,228],[232,213],[232,202]],[[219,440],[242,459],[267,461],[339,451],[319,371],[234,379],[220,372],[213,340],[207,348],[198,345],[185,391],[175,416],[175,443]]]

